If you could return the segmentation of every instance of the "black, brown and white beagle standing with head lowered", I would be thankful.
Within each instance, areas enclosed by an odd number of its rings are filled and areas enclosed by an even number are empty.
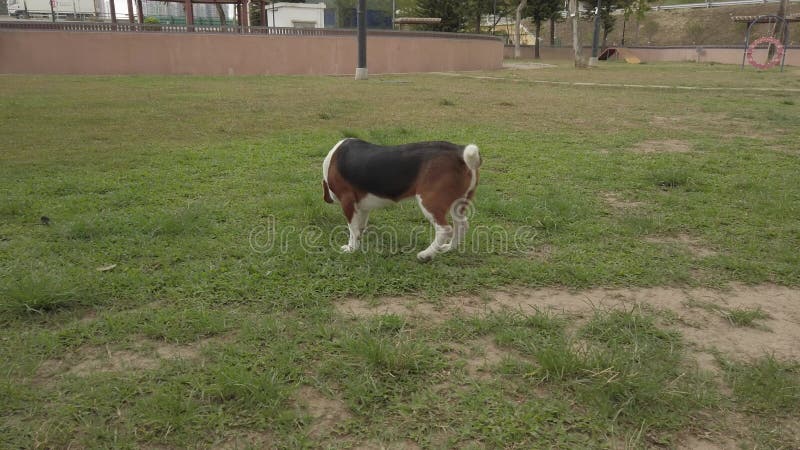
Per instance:
[[[416,197],[436,230],[430,246],[417,254],[429,261],[458,247],[467,231],[464,209],[475,195],[481,157],[478,147],[450,142],[380,146],[360,139],[339,141],[322,163],[322,188],[328,203],[339,202],[350,229],[342,251],[353,252],[369,212]],[[453,226],[447,222],[451,213]]]

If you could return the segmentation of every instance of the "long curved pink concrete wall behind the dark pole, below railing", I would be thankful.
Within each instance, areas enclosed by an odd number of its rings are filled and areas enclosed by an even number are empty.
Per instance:
[[[355,35],[0,31],[0,73],[333,74],[355,72]],[[370,73],[497,69],[495,39],[369,34]]]

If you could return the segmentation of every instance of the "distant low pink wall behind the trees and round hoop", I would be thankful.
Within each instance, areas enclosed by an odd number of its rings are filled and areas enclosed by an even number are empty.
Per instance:
[[[522,46],[520,47],[521,56],[523,58],[533,58],[533,47]],[[585,47],[583,49],[584,55],[591,55],[592,49]],[[631,55],[639,58],[644,62],[658,62],[658,61],[698,61],[697,47],[627,47],[623,49],[625,55]],[[699,55],[700,62],[715,62],[720,64],[741,64],[742,48],[714,48],[702,47],[702,52]],[[506,46],[504,49],[506,58],[514,57],[514,47]],[[570,47],[545,47],[539,49],[539,55],[542,62],[548,60],[564,60],[572,59],[572,48]],[[756,51],[756,61],[764,62],[766,58],[766,50]],[[800,48],[786,49],[787,66],[800,66]]]

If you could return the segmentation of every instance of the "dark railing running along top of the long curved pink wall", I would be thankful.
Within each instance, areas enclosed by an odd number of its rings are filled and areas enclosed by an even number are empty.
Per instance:
[[[282,28],[239,25],[176,25],[140,24],[130,22],[44,22],[44,21],[0,21],[2,30],[30,31],[83,31],[83,32],[158,32],[158,33],[228,33],[267,36],[355,36],[356,30],[340,28]],[[440,33],[432,31],[369,30],[369,35],[434,37],[445,39],[500,40],[497,36],[465,33]]]

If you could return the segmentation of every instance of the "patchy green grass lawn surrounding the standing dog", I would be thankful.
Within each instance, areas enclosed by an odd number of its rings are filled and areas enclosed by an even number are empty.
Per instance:
[[[465,75],[1,76],[0,447],[800,447],[800,71]],[[343,136],[478,144],[464,248],[340,253]]]

